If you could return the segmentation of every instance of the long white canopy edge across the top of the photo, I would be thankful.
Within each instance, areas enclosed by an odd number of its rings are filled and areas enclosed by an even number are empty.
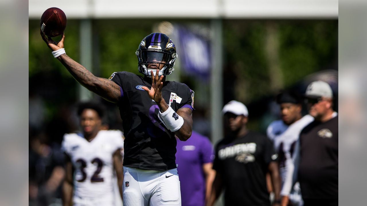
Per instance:
[[[50,7],[68,18],[337,18],[338,0],[29,0],[29,18]]]

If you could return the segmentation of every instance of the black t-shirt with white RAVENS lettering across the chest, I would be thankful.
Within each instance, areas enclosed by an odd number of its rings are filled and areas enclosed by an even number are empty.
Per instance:
[[[224,139],[215,148],[213,169],[225,186],[225,205],[270,205],[265,175],[277,161],[272,142],[257,132]]]

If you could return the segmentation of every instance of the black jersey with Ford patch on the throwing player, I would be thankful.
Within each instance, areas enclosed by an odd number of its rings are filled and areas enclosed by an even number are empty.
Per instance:
[[[159,107],[141,87],[152,87],[143,77],[130,72],[115,72],[109,78],[116,82],[122,95],[117,103],[124,128],[124,166],[146,170],[176,168],[176,138],[159,120]],[[162,97],[174,111],[193,109],[194,92],[185,84],[166,81]]]

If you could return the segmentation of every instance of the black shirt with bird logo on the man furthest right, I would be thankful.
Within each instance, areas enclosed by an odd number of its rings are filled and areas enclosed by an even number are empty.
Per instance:
[[[338,198],[338,116],[311,122],[302,130],[299,142],[302,197]]]

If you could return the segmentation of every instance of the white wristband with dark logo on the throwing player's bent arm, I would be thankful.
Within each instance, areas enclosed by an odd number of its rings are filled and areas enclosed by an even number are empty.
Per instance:
[[[183,125],[183,118],[170,106],[163,113],[159,112],[158,117],[171,132],[179,130]]]

